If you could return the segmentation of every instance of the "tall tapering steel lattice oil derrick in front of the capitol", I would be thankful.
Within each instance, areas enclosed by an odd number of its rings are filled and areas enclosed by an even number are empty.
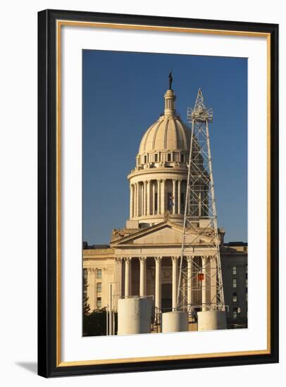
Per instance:
[[[225,310],[209,141],[213,109],[206,108],[201,89],[194,108],[187,109],[187,121],[192,136],[177,307],[195,316],[200,310]]]

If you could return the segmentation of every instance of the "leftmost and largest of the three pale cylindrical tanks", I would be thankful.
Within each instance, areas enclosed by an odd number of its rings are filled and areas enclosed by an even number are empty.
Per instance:
[[[149,334],[152,305],[151,297],[120,298],[118,300],[118,335]]]

